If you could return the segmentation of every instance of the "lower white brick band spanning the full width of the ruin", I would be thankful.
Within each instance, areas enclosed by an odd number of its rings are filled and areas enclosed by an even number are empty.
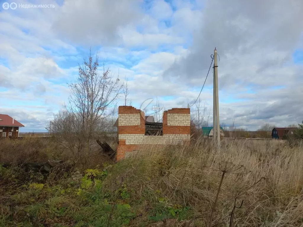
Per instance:
[[[130,144],[176,144],[189,140],[190,135],[186,134],[165,134],[163,136],[145,136],[144,134],[119,134],[119,140],[125,140],[126,145]]]

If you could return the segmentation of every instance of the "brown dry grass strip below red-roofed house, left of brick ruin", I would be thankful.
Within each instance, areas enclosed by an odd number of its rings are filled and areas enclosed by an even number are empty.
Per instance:
[[[90,150],[72,153],[52,138],[26,137],[22,140],[0,140],[0,164],[17,166],[27,162],[45,163],[48,159],[63,160],[80,169],[111,162],[97,143]]]

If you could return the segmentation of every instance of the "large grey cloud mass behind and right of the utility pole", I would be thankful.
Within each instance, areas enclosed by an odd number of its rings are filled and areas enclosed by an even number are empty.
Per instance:
[[[261,121],[300,122],[302,65],[295,65],[292,55],[302,47],[303,24],[296,22],[303,19],[302,9],[301,1],[207,1],[189,54],[163,76],[203,83],[216,47],[219,97],[245,100],[229,105],[235,112],[224,116],[228,123],[235,118],[239,126],[256,128]]]

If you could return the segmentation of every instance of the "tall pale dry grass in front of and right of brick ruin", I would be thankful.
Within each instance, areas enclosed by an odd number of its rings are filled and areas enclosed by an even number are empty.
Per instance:
[[[218,194],[216,226],[303,225],[302,144],[223,140],[217,150],[211,141],[199,140],[191,146],[142,146],[115,166],[112,179],[130,170],[124,180],[138,192],[135,200],[144,191],[161,191],[171,203],[195,210],[191,222],[208,225]],[[107,186],[114,189],[112,179]],[[242,200],[231,224],[231,212]]]

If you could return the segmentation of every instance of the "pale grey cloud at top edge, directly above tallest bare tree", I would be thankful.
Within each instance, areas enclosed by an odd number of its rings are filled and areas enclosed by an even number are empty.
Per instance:
[[[52,29],[77,44],[117,44],[119,28],[142,18],[140,2],[67,0]]]

